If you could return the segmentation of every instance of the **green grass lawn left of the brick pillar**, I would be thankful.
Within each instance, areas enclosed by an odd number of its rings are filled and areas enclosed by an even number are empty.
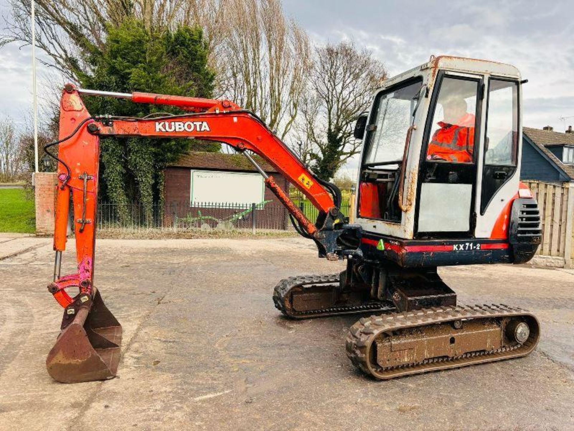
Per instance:
[[[0,232],[34,233],[34,201],[24,188],[0,188]]]

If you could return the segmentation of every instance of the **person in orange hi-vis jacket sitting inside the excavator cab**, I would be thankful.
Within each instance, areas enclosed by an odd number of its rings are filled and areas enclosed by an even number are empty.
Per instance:
[[[467,102],[461,95],[449,94],[443,100],[443,121],[433,133],[426,152],[426,160],[451,163],[472,163],[474,150],[474,114],[468,113]]]

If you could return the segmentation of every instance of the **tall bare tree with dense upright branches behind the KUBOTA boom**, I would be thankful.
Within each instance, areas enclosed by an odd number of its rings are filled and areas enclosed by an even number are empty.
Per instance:
[[[280,0],[230,0],[223,41],[226,95],[253,110],[285,138],[305,90],[309,38],[288,20]]]

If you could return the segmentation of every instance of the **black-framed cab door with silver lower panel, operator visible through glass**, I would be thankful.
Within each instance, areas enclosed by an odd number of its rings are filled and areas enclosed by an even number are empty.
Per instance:
[[[474,236],[483,94],[483,75],[437,76],[421,151],[416,237]]]

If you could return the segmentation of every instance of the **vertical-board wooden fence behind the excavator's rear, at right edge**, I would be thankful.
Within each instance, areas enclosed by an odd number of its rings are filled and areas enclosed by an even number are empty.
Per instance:
[[[542,244],[536,252],[540,256],[564,259],[564,266],[572,262],[572,218],[574,217],[574,186],[571,183],[524,181],[538,202],[542,223]]]

